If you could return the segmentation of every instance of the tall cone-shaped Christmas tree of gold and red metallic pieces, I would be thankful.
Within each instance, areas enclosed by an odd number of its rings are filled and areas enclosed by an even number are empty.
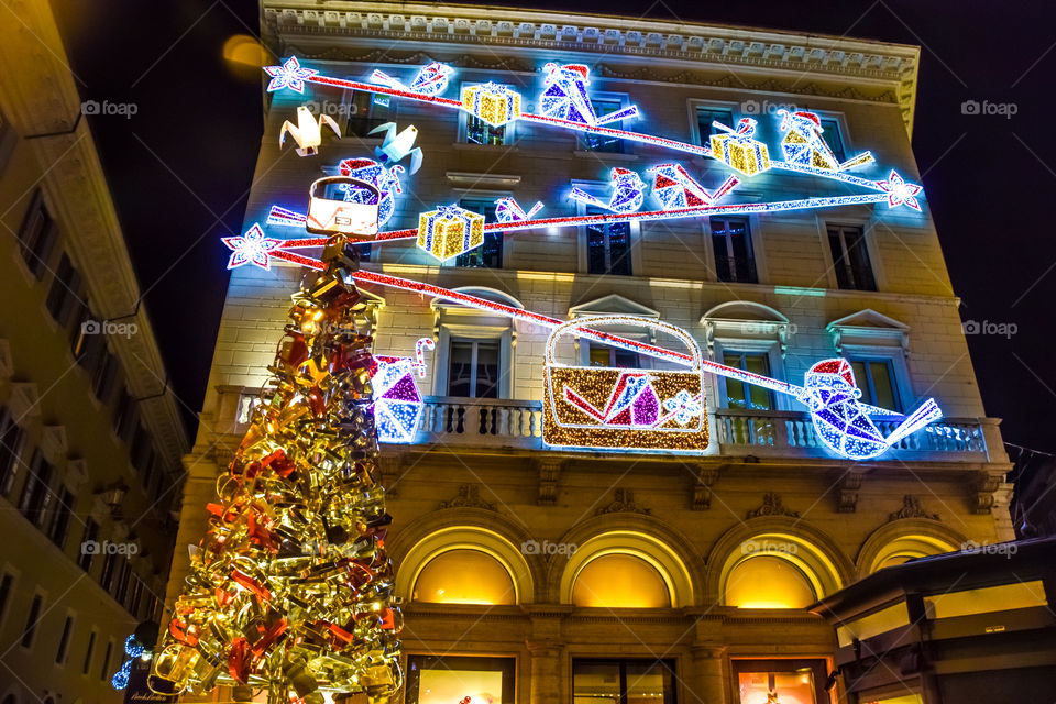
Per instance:
[[[153,674],[176,691],[234,688],[249,700],[383,700],[400,685],[400,614],[375,482],[371,338],[336,238],[293,296],[272,377],[218,480],[209,531]]]

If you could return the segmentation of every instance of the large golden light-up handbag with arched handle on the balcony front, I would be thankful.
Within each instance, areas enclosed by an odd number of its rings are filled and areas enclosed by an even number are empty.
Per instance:
[[[689,371],[570,366],[554,345],[579,327],[634,326],[668,333],[693,356]],[[578,318],[547,341],[542,439],[549,446],[700,452],[707,448],[707,404],[701,349],[680,328],[628,316]]]

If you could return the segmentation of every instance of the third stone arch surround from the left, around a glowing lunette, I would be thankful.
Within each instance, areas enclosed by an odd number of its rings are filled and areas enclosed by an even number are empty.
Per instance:
[[[789,516],[760,516],[730,528],[707,559],[705,598],[726,600],[726,579],[739,563],[756,557],[788,561],[804,574],[818,598],[855,580],[855,565],[825,532]]]

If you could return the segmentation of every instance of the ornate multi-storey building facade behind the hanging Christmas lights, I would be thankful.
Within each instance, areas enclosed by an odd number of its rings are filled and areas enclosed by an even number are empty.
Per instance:
[[[429,62],[454,68],[449,92],[496,81],[538,107],[543,66],[581,64],[598,114],[637,105],[627,129],[707,144],[714,123],[779,111],[818,116],[843,161],[864,150],[920,182],[910,145],[919,50],[729,26],[496,8],[265,0],[263,36],[280,59],[366,80],[402,80]],[[299,157],[278,133],[298,105],[338,120],[341,139]],[[309,85],[270,95],[245,228],[278,205],[304,212],[308,185],[345,158],[377,158],[372,130],[414,124],[420,170],[399,175],[387,229],[457,204],[495,219],[496,199],[546,216],[594,212],[614,167],[678,162],[708,191],[730,169],[654,145]],[[836,195],[821,179],[768,172],[730,202]],[[697,453],[557,449],[543,442],[548,365],[641,367],[634,353],[574,336],[548,359],[541,326],[369,288],[376,352],[436,350],[418,384],[411,441],[384,446],[395,517],[387,544],[404,598],[407,704],[831,701],[832,629],[807,607],[865,575],[1012,537],[1009,470],[987,418],[928,215],[887,204],[490,235],[438,264],[415,244],[364,248],[362,267],[560,319],[632,316],[689,331],[706,360],[800,383],[812,364],[851,362],[862,399],[900,411],[935,397],[946,417],[871,460],[826,449],[795,399],[702,375],[711,432]],[[201,428],[188,466],[167,603],[186,546],[240,441],[300,270],[233,272]],[[622,323],[624,324],[624,323]],[[654,327],[614,328],[642,341]],[[635,337],[637,336],[637,337]],[[660,369],[654,367],[654,369]],[[904,691],[859,701],[919,701]]]

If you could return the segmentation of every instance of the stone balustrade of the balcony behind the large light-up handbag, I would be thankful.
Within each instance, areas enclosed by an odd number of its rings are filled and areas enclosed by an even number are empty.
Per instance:
[[[237,395],[223,394],[226,403],[221,405],[221,413],[234,421],[230,432],[241,435],[256,404],[256,395],[248,389],[238,391]],[[814,432],[805,413],[718,408],[708,414],[708,425],[712,431],[708,455],[836,457]],[[877,425],[884,435],[895,426],[891,422]],[[987,432],[996,432],[996,429],[997,421],[988,419],[947,418],[904,438],[881,459],[987,462]],[[548,448],[542,442],[542,403],[426,397],[414,444],[543,451]]]

